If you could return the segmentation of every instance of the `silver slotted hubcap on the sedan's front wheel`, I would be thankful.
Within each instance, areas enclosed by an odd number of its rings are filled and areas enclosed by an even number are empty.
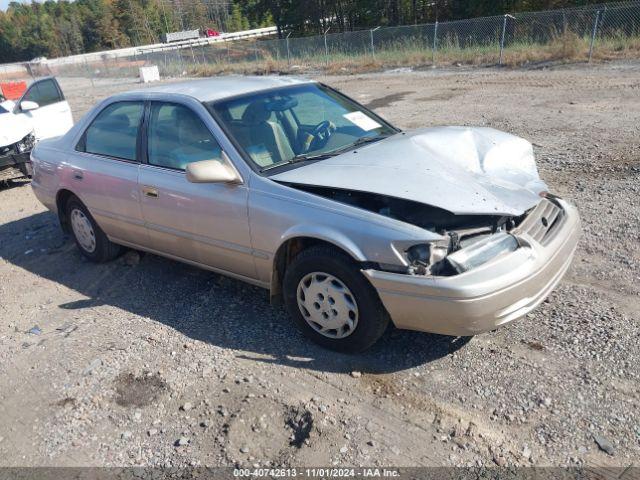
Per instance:
[[[316,332],[345,338],[358,325],[358,305],[347,286],[333,275],[313,272],[298,284],[298,308]]]

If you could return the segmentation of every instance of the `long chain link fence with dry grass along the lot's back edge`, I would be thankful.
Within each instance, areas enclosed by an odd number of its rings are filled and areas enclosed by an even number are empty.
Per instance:
[[[161,78],[178,78],[638,57],[640,0],[425,25],[327,31],[300,38],[141,47],[127,56],[87,54],[1,65],[0,81],[55,75],[62,83],[64,78],[76,78],[95,87],[105,82],[136,82],[144,66],[157,66]]]

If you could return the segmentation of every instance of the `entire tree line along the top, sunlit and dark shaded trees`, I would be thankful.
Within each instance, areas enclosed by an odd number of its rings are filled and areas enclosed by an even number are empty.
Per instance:
[[[46,0],[0,11],[0,62],[158,42],[185,29],[276,25],[282,36],[409,25],[603,0]]]

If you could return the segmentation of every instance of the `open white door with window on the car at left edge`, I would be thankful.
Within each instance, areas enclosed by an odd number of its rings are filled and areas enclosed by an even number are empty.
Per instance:
[[[20,103],[35,102],[38,108],[23,111]],[[71,108],[55,78],[37,80],[24,93],[16,106],[16,115],[31,121],[36,140],[64,135],[73,126]]]

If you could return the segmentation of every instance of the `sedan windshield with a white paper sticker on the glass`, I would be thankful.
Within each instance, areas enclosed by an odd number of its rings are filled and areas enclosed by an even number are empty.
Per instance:
[[[260,170],[335,155],[396,133],[375,114],[318,84],[257,92],[209,106]]]

